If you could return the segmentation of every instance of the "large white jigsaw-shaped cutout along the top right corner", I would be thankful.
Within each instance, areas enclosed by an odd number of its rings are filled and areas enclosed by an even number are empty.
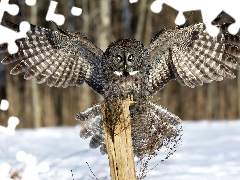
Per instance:
[[[225,1],[225,0],[211,0],[206,3],[204,1],[193,1],[193,0],[155,0],[151,4],[151,10],[155,13],[159,13],[162,10],[162,4],[165,3],[172,8],[179,11],[175,23],[181,25],[185,22],[183,16],[184,11],[201,10],[203,22],[206,25],[208,33],[216,37],[219,33],[219,29],[211,24],[212,20],[221,12],[225,11],[227,14],[235,19],[235,23],[229,26],[228,31],[231,34],[236,34],[240,27],[240,1]],[[212,8],[214,7],[214,8]]]

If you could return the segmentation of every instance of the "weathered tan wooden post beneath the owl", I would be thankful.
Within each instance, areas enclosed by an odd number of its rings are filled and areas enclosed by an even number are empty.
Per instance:
[[[104,136],[112,180],[135,180],[129,99],[105,102],[102,114]]]

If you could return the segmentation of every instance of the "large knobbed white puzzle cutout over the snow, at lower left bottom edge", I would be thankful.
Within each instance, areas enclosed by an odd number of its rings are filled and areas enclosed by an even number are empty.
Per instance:
[[[37,164],[37,158],[31,154],[27,154],[24,151],[19,151],[16,154],[16,159],[20,162],[26,163],[22,180],[39,180],[38,174],[49,171],[49,165],[46,162]]]

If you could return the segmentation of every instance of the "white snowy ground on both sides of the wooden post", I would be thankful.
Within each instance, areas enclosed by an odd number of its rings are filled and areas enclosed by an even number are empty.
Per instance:
[[[151,170],[147,180],[240,180],[240,121],[183,122],[183,142],[168,160]],[[91,170],[99,180],[110,179],[108,159],[99,149],[90,149],[79,138],[79,128],[17,130],[15,136],[0,134],[0,164],[23,172],[25,164],[16,160],[20,150],[47,162],[50,170],[40,179],[88,180]],[[157,156],[150,167],[159,163]],[[72,173],[73,172],[73,177]]]

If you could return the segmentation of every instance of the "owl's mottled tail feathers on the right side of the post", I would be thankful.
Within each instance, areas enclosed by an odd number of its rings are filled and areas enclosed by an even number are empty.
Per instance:
[[[181,141],[180,123],[178,116],[160,105],[150,101],[136,104],[131,132],[134,154],[148,158],[161,148],[172,154]]]

